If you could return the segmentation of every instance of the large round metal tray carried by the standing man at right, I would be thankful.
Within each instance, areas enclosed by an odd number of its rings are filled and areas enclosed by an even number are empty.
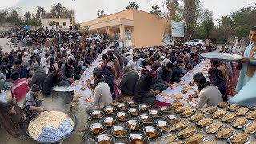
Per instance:
[[[211,53],[202,53],[200,55],[203,58],[207,58],[215,61],[222,61],[222,62],[238,62],[240,59],[242,59],[241,55],[229,54],[229,53],[211,52]]]

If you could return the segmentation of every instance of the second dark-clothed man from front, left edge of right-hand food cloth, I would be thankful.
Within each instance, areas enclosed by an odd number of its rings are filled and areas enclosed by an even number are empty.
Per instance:
[[[159,67],[157,70],[157,82],[154,90],[166,90],[170,85],[170,78],[172,77],[173,64],[167,63],[166,66]]]

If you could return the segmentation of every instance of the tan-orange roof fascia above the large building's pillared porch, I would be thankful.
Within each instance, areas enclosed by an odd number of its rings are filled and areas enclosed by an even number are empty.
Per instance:
[[[115,14],[110,14],[110,15],[106,15],[105,17],[102,18],[97,18],[94,19],[92,21],[89,22],[83,22],[81,23],[81,26],[90,26],[90,25],[94,25],[97,23],[101,23],[101,22],[107,22],[107,21],[111,21],[117,18],[124,18],[124,19],[129,19],[129,20],[133,20],[134,15],[132,14],[132,10],[123,10],[121,12],[115,13]]]

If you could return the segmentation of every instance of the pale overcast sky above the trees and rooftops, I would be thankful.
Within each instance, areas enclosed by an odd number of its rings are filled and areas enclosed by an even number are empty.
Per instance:
[[[36,6],[43,6],[48,12],[51,5],[62,3],[67,8],[74,9],[76,20],[86,22],[97,18],[98,10],[104,10],[106,14],[114,14],[126,10],[129,2],[135,1],[139,10],[150,12],[151,6],[158,5],[161,10],[166,10],[163,3],[166,0],[0,0],[0,10],[10,6],[21,7],[22,16],[26,11],[36,12]],[[214,20],[231,12],[240,10],[244,6],[256,3],[256,0],[201,0],[202,6],[214,12]]]

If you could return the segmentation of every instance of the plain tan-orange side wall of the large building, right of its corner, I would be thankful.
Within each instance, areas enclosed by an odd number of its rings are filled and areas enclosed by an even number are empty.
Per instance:
[[[161,45],[164,31],[171,34],[171,21],[149,14],[141,10],[134,10],[134,41],[136,47]],[[165,28],[166,27],[166,28]]]

